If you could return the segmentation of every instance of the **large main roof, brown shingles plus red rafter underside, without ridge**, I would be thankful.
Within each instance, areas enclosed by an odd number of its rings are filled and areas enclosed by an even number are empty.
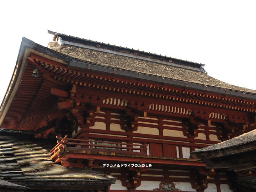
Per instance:
[[[180,65],[184,64],[181,68],[65,44],[59,46],[56,42],[51,45],[55,50],[22,39],[14,74],[0,106],[0,128],[37,130],[44,126],[48,114],[57,110],[58,96],[51,94],[50,89],[70,91],[73,84],[78,88],[104,92],[101,95],[106,95],[106,98],[118,91],[121,95],[117,99],[127,100],[124,97],[134,96],[133,100],[141,97],[144,101],[144,98],[152,98],[155,100],[149,104],[166,105],[165,108],[175,107],[173,104],[167,106],[167,101],[178,102],[183,108],[190,105],[188,108],[192,110],[194,106],[197,109],[206,106],[209,112],[222,108],[221,113],[227,115],[230,110],[237,110],[236,115],[241,117],[256,112],[256,91],[225,84],[205,73],[186,68],[200,69],[202,65],[198,63],[179,61]],[[87,68],[71,68],[71,62]],[[119,66],[120,63],[123,66]],[[38,77],[32,76],[35,67]]]

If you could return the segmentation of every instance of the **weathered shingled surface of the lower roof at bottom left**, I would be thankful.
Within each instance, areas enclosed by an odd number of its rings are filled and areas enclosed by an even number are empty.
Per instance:
[[[0,179],[6,181],[104,181],[116,177],[97,169],[67,168],[50,161],[47,139],[0,138]]]

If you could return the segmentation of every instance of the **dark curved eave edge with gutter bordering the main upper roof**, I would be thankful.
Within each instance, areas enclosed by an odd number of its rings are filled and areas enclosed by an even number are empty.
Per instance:
[[[36,53],[40,54],[41,56],[44,56],[48,59],[55,60],[60,63],[64,63],[66,65],[70,65],[70,63],[74,62],[76,63],[83,63],[85,65],[88,65],[88,63],[85,63],[84,61],[81,61],[76,58],[72,58],[68,55],[59,53],[57,51],[54,51],[52,49],[46,48],[44,46],[41,46],[37,43],[34,43],[33,41],[23,37],[21,42],[21,47],[18,53],[17,62],[15,65],[14,72],[12,74],[12,78],[10,81],[10,84],[8,86],[8,89],[6,91],[6,94],[4,96],[4,99],[0,106],[0,125],[5,118],[5,115],[11,105],[11,102],[16,94],[16,91],[18,89],[18,86],[21,82],[23,71],[26,66],[26,59],[29,57],[30,53]],[[240,97],[240,98],[247,98],[248,100],[256,100],[256,95],[251,93],[244,93],[243,91],[236,91],[236,90],[226,90],[224,88],[220,87],[211,87],[206,86],[202,84],[196,84],[192,82],[186,82],[182,80],[174,80],[174,79],[168,79],[163,78],[162,76],[156,76],[156,75],[149,75],[149,74],[141,74],[135,71],[128,71],[123,69],[117,69],[117,68],[111,68],[106,66],[97,65],[90,62],[90,66],[92,67],[91,70],[95,70],[96,72],[102,71],[106,73],[106,68],[110,69],[109,73],[116,73],[119,74],[125,78],[138,78],[145,81],[153,81],[158,84],[169,84],[172,86],[178,86],[178,87],[186,87],[189,89],[194,89],[198,91],[206,91],[206,92],[212,92],[215,94],[222,94],[222,95],[229,95],[233,97]],[[71,66],[72,67],[72,66]]]

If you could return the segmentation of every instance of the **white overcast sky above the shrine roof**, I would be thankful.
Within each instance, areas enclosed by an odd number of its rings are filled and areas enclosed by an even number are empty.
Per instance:
[[[47,29],[203,63],[208,75],[256,90],[255,9],[254,0],[1,1],[0,100],[22,37],[47,46]]]

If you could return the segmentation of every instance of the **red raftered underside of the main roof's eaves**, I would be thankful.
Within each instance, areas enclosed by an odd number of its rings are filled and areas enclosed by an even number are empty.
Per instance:
[[[141,97],[149,104],[159,101],[158,104],[162,105],[162,108],[165,106],[161,103],[171,103],[184,108],[189,107],[192,110],[195,108],[198,113],[201,113],[199,109],[202,107],[215,113],[221,110],[221,113],[228,112],[228,115],[232,116],[229,118],[233,118],[241,111],[248,113],[256,110],[256,104],[244,98],[156,84],[153,81],[127,79],[120,75],[109,75],[94,70],[78,71],[33,53],[30,57],[15,98],[1,123],[1,128],[34,130],[39,128],[38,126],[45,125],[44,119],[49,112],[56,110],[53,106],[58,100],[58,97],[50,94],[50,88],[58,87],[58,89],[69,90],[74,84],[78,88],[84,87],[88,90],[98,91],[99,94],[101,91],[106,92],[106,95],[119,94],[121,99],[122,97],[124,99],[126,97],[134,97],[134,99]],[[36,78],[31,75],[34,67],[37,67],[39,71],[39,76]],[[151,110],[151,112],[166,114],[164,109],[160,108],[158,111]],[[209,114],[203,115],[209,116]],[[248,119],[248,114],[246,116]],[[211,119],[209,118],[209,120]],[[246,119],[243,120],[246,121]]]

